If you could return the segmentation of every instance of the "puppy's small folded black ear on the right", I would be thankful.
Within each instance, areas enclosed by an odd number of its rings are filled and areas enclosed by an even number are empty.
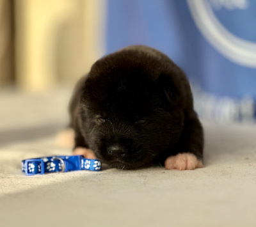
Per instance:
[[[172,107],[182,104],[182,88],[180,81],[171,75],[161,74],[157,81],[164,92],[165,97]]]

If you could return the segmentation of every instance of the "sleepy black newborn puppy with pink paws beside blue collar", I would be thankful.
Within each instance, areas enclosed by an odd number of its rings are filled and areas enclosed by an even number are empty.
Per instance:
[[[202,167],[203,130],[186,75],[150,47],[96,61],[77,83],[70,115],[74,154],[121,169]]]

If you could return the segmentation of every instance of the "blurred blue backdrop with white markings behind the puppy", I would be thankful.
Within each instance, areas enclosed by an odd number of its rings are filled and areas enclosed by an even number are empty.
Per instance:
[[[256,99],[256,1],[109,0],[107,50],[143,44],[188,75],[198,113],[252,121]]]

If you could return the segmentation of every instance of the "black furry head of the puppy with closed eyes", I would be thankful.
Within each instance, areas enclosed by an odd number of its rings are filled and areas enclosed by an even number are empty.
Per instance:
[[[177,142],[184,116],[179,81],[170,77],[179,70],[173,67],[136,51],[93,65],[79,116],[97,157],[115,168],[138,168]]]

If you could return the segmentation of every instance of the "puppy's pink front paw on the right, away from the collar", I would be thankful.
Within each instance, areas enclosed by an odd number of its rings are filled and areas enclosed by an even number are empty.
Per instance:
[[[202,168],[203,162],[196,158],[193,153],[179,153],[175,156],[168,157],[164,162],[166,169],[195,169]]]

